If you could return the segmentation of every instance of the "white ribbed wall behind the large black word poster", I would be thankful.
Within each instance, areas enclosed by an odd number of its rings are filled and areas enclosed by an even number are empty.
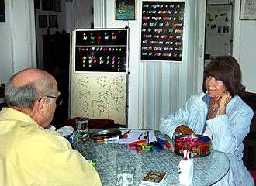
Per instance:
[[[200,2],[186,1],[185,7],[185,31],[184,31],[184,60],[182,63],[169,63],[140,60],[140,25],[142,1],[137,1],[135,21],[116,21],[114,16],[114,0],[94,1],[94,3],[106,3],[106,22],[100,22],[99,26],[106,28],[130,28],[130,53],[129,53],[129,113],[128,126],[130,128],[158,129],[161,117],[174,112],[178,106],[183,105],[185,100],[197,91],[195,82],[200,82],[202,77],[197,78],[199,36],[195,34],[198,27],[195,22],[195,12]],[[199,15],[196,15],[199,17]],[[203,16],[204,17],[204,16]],[[95,19],[95,25],[98,26]],[[190,24],[187,24],[187,23]],[[204,29],[200,27],[200,29]],[[203,67],[202,61],[201,65]],[[199,74],[202,76],[202,74]],[[201,85],[200,85],[201,87]]]

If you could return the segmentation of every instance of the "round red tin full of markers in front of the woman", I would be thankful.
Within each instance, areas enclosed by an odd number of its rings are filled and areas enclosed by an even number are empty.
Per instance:
[[[189,150],[192,157],[203,157],[211,151],[211,139],[203,135],[179,135],[175,137],[175,153],[183,156]]]

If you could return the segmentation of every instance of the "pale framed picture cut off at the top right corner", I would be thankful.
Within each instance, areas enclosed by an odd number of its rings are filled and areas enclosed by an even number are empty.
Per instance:
[[[256,0],[240,0],[240,20],[256,20]]]

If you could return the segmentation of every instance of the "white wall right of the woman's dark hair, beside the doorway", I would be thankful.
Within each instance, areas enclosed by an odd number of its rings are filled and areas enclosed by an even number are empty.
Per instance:
[[[233,56],[240,62],[242,83],[246,91],[256,92],[256,22],[239,19],[240,0],[234,2],[234,45]]]

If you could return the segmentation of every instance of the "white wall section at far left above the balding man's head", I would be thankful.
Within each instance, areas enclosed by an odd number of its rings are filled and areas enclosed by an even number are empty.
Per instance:
[[[26,67],[36,67],[33,0],[5,1],[6,22],[0,23],[0,82]]]

